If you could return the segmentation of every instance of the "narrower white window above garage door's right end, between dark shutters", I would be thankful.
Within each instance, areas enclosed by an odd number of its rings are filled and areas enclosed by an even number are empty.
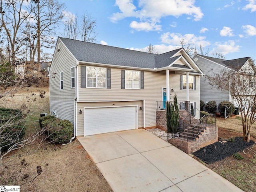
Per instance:
[[[125,88],[140,89],[140,71],[125,70]]]

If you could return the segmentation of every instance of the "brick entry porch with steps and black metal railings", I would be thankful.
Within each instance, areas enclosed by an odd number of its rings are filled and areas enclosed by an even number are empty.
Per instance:
[[[191,106],[189,101],[178,101],[179,124],[177,132],[168,132],[166,109],[158,101],[156,110],[156,128],[168,133],[168,142],[190,154],[200,148],[218,141],[216,114],[200,115],[200,111]],[[173,102],[170,102],[172,105]],[[162,105],[163,106],[163,105]]]

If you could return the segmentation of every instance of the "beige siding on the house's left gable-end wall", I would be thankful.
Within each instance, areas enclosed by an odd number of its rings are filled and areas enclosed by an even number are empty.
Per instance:
[[[50,110],[56,110],[58,118],[70,120],[74,124],[76,94],[75,88],[71,88],[70,68],[76,65],[76,60],[60,40],[58,43],[60,51],[55,51],[50,69]],[[60,72],[63,72],[63,90],[60,90]]]

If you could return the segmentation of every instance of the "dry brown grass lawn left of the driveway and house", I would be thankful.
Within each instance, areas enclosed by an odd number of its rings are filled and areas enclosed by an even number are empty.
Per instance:
[[[40,90],[46,91],[44,98],[39,96]],[[49,114],[48,88],[28,88],[12,98],[6,98],[6,102],[0,102],[0,106],[20,108],[24,103],[30,110],[26,120],[27,133],[32,133],[35,128],[39,128],[37,120],[40,113]],[[31,146],[16,150],[3,160],[0,185],[20,185],[21,192],[112,191],[77,140],[64,146],[45,144],[40,148],[38,143],[39,140]],[[42,172],[38,175],[40,168]]]

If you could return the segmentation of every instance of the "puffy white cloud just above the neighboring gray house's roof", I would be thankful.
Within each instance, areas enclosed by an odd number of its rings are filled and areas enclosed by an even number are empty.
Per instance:
[[[236,45],[234,41],[230,40],[228,42],[225,42],[224,44],[221,44],[219,42],[215,43],[216,47],[213,48],[212,53],[220,53],[223,55],[239,52],[240,47],[239,45]]]

